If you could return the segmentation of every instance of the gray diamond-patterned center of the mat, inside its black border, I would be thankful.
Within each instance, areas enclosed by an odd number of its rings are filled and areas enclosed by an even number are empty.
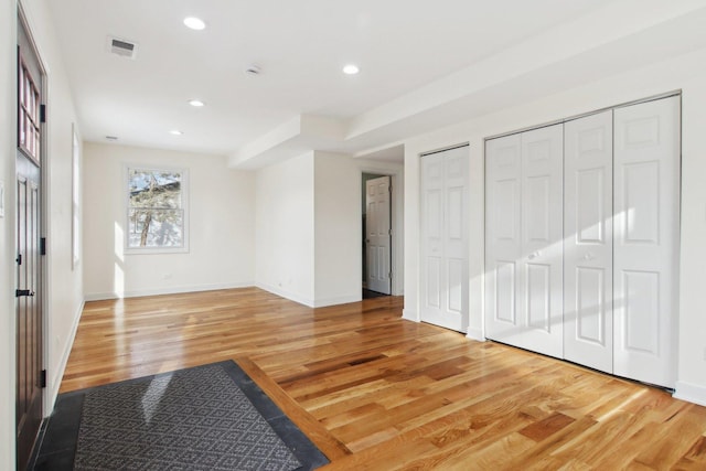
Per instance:
[[[222,366],[107,386],[84,402],[77,470],[300,465]]]

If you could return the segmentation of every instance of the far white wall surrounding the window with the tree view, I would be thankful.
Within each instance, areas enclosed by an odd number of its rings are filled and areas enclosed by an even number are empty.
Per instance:
[[[128,164],[188,170],[188,253],[124,253]],[[83,178],[86,299],[252,286],[253,180],[252,172],[228,169],[223,157],[86,142]]]

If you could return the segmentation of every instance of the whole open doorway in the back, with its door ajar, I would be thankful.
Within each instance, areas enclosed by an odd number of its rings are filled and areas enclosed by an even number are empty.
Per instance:
[[[363,173],[363,299],[392,293],[392,178]]]

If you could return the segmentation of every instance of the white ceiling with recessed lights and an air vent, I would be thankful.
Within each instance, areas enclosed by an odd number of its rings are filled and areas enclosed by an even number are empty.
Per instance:
[[[224,154],[233,164],[243,164],[268,152],[271,161],[290,149],[307,147],[360,154],[397,144],[409,132],[448,124],[439,118],[445,115],[438,113],[440,107],[469,101],[462,107],[470,109],[483,89],[548,71],[606,44],[628,44],[634,35],[670,22],[675,24],[664,34],[672,34],[683,29],[689,18],[686,13],[691,18],[694,11],[703,13],[705,2],[676,0],[665,10],[662,3],[667,2],[649,0],[656,11],[639,13],[637,20],[624,19],[624,23],[612,17],[630,12],[639,2],[47,3],[85,140],[117,136],[118,143]],[[617,3],[622,9],[613,11]],[[203,19],[207,28],[186,29],[182,20],[188,15]],[[569,42],[574,49],[563,50],[566,29],[591,32],[591,25],[593,36]],[[138,43],[137,60],[109,54],[109,35]],[[543,41],[553,44],[547,63],[525,63],[522,47]],[[694,39],[687,36],[677,49],[691,46]],[[501,60],[504,63],[499,66]],[[344,75],[341,68],[346,63],[357,64],[361,73]],[[245,73],[253,64],[261,67],[260,75]],[[580,77],[565,85],[577,81]],[[206,106],[191,107],[192,98]],[[454,116],[450,111],[458,109],[449,109],[446,116]],[[171,129],[184,133],[172,136]],[[389,151],[385,158],[391,159]]]

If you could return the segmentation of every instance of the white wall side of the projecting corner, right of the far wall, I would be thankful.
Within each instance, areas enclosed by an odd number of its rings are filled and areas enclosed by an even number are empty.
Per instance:
[[[314,302],[313,152],[257,171],[255,282]]]

